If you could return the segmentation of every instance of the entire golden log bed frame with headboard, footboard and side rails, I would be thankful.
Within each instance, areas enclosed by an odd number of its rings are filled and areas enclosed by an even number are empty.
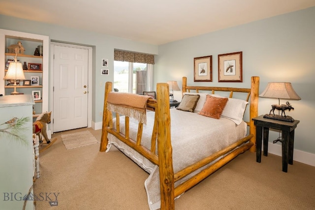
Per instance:
[[[250,150],[255,151],[256,130],[253,124],[252,118],[258,115],[258,92],[259,92],[259,77],[253,76],[251,78],[251,89],[246,88],[223,88],[223,87],[201,87],[201,86],[187,86],[187,78],[183,77],[183,92],[190,92],[194,90],[211,91],[210,94],[215,94],[215,91],[227,91],[229,97],[233,96],[234,92],[247,93],[246,100],[250,99],[250,120],[246,121],[250,127],[250,134],[238,142],[228,146],[227,148],[220,150],[193,165],[186,167],[185,169],[174,174],[173,171],[173,159],[172,159],[172,145],[171,145],[171,119],[169,108],[169,87],[166,83],[157,84],[157,100],[148,99],[147,109],[155,110],[155,122],[151,139],[151,149],[147,149],[141,145],[141,136],[143,123],[139,122],[137,139],[132,140],[129,138],[129,118],[125,118],[126,135],[120,133],[119,126],[119,114],[116,113],[116,129],[113,129],[113,117],[112,112],[106,109],[107,95],[112,91],[112,83],[107,82],[105,86],[104,97],[104,112],[103,112],[103,124],[102,124],[102,136],[99,151],[105,151],[108,143],[107,134],[111,133],[124,142],[132,149],[138,151],[145,156],[151,162],[159,166],[159,178],[160,178],[160,197],[161,197],[161,210],[174,210],[174,198],[181,195],[201,180],[204,180],[209,175],[220,169],[230,160],[237,155]],[[250,97],[251,96],[251,97]],[[158,154],[156,154],[156,148],[158,147]],[[233,150],[233,151],[232,151]],[[227,154],[228,153],[228,154]],[[174,186],[174,182],[189,175],[198,168],[216,160],[218,157],[227,154],[219,161],[215,162],[208,168],[204,169],[197,175],[193,176],[189,180],[186,180],[177,187]]]

